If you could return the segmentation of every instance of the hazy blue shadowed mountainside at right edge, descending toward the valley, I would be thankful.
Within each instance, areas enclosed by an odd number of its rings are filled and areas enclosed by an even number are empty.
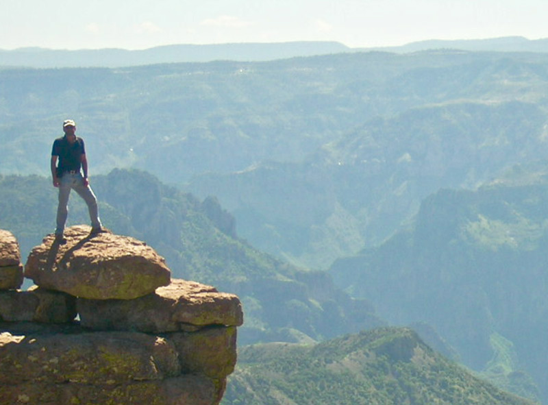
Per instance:
[[[530,373],[546,400],[547,173],[516,167],[477,191],[440,190],[409,230],[330,273],[390,323],[432,325],[469,367]]]

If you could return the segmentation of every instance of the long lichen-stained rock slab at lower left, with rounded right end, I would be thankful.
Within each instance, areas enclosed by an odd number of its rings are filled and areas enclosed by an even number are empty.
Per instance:
[[[138,332],[3,332],[0,369],[3,385],[23,381],[121,384],[181,373],[173,343]]]

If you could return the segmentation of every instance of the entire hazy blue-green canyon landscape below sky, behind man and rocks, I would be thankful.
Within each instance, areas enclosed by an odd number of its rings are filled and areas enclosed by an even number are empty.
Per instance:
[[[242,299],[224,404],[304,404],[338,378],[360,387],[347,403],[548,404],[544,41],[234,49],[0,52],[0,228],[23,256],[53,231],[49,152],[73,118],[105,225]],[[69,220],[87,221],[75,198]]]

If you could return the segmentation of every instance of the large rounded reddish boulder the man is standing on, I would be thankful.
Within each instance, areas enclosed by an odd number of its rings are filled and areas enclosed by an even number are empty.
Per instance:
[[[90,227],[67,228],[66,244],[48,235],[34,247],[25,277],[45,289],[88,299],[134,299],[170,282],[164,258],[146,243]]]

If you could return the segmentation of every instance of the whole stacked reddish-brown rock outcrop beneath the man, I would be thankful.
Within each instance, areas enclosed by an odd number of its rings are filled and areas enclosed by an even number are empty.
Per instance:
[[[49,235],[29,255],[38,286],[0,291],[0,405],[219,404],[236,364],[238,297],[170,280],[133,238],[84,226],[66,238]],[[1,267],[22,275],[9,232],[0,247]]]

